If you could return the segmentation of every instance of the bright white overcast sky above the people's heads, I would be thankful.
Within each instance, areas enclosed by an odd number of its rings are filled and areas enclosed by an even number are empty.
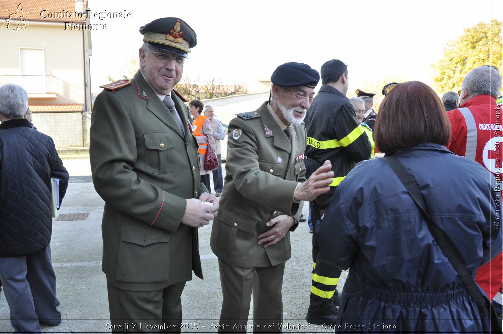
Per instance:
[[[92,87],[99,92],[107,76],[118,73],[142,43],[140,26],[161,17],[179,17],[197,33],[184,68],[196,84],[216,78],[245,83],[253,91],[259,79],[288,61],[319,70],[329,59],[349,69],[349,96],[385,78],[434,84],[433,64],[463,28],[503,17],[500,0],[404,2],[230,0],[161,2],[89,0],[93,12],[129,12],[129,18],[92,19],[107,24],[93,30]],[[501,64],[494,64],[498,67]],[[374,92],[379,93],[380,92]]]

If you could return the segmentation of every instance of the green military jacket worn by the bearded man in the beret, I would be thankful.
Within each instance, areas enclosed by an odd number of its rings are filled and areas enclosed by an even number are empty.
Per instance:
[[[258,244],[258,236],[272,228],[266,226],[270,219],[286,214],[299,220],[302,213],[303,202],[295,203],[293,195],[306,180],[306,130],[304,124],[292,125],[290,142],[267,104],[229,123],[225,182],[211,230],[213,253],[243,268],[290,259],[290,232],[267,248]]]

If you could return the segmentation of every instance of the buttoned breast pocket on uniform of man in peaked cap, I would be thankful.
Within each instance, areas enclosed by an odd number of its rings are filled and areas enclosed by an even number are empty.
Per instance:
[[[145,170],[151,174],[173,173],[178,170],[175,138],[171,132],[143,132],[145,139]]]

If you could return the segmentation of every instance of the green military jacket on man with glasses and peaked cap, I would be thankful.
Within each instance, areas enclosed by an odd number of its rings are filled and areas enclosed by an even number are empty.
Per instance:
[[[121,289],[161,289],[190,280],[191,268],[202,278],[198,231],[181,220],[186,199],[207,189],[189,111],[174,92],[171,97],[185,135],[140,71],[130,85],[104,90],[94,104],[90,157],[95,189],[105,201],[103,271]]]

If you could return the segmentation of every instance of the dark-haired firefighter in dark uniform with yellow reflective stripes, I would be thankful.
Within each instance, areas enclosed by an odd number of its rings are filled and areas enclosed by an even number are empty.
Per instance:
[[[356,162],[370,158],[372,145],[365,129],[358,122],[353,106],[346,97],[348,67],[332,59],[321,66],[321,89],[306,116],[307,147],[306,168],[315,171],[325,160],[330,160],[334,176],[330,191],[319,195],[311,204],[311,219],[320,220],[328,208],[337,186],[355,166]],[[337,284],[341,270],[322,261],[313,234],[313,279],[307,322],[334,323],[338,304]]]

